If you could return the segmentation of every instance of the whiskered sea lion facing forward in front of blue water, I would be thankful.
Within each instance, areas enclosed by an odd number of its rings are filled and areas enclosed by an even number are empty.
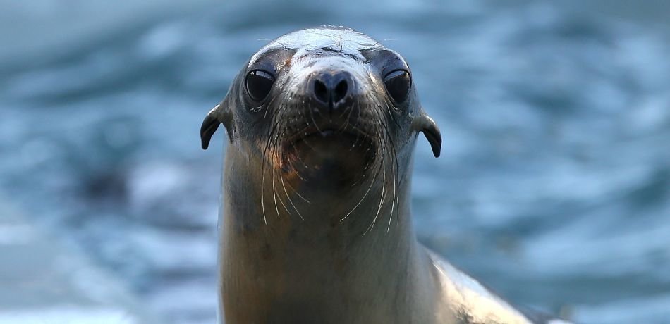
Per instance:
[[[532,323],[428,251],[410,217],[422,132],[441,135],[395,51],[355,30],[284,35],[250,58],[202,123],[227,145],[225,323]]]

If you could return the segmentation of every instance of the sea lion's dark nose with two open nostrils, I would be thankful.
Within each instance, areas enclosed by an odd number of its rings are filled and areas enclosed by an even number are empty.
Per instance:
[[[324,108],[339,108],[351,94],[353,78],[346,71],[326,71],[312,77],[310,92],[312,99]]]

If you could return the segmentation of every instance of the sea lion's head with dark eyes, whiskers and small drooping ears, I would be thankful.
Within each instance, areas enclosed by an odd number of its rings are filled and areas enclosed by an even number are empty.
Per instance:
[[[204,148],[219,122],[231,144],[247,145],[293,185],[352,187],[389,168],[398,173],[417,131],[439,155],[439,130],[416,99],[406,61],[341,27],[300,30],[260,49],[205,118]]]

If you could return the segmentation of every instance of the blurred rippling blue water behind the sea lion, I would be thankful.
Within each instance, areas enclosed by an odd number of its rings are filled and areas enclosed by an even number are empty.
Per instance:
[[[323,24],[403,54],[441,127],[442,156],[415,153],[422,242],[516,304],[670,323],[669,3],[0,5],[0,196],[160,323],[216,318],[223,133],[202,151],[202,118],[258,39]]]

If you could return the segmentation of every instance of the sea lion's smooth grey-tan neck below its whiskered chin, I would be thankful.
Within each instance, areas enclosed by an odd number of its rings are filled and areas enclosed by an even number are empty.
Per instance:
[[[427,312],[432,295],[414,292],[427,289],[431,278],[410,275],[428,263],[413,234],[408,183],[396,188],[394,207],[379,208],[375,188],[358,208],[355,199],[307,203],[298,197],[293,201],[298,215],[288,202],[286,208],[279,201],[275,205],[271,185],[261,190],[259,181],[248,181],[255,175],[250,168],[236,168],[243,161],[237,154],[229,147],[221,218],[221,297],[228,318],[235,323],[408,323],[414,313]],[[262,202],[255,192],[269,196]],[[393,194],[388,194],[390,201]],[[395,296],[397,302],[379,296]]]

